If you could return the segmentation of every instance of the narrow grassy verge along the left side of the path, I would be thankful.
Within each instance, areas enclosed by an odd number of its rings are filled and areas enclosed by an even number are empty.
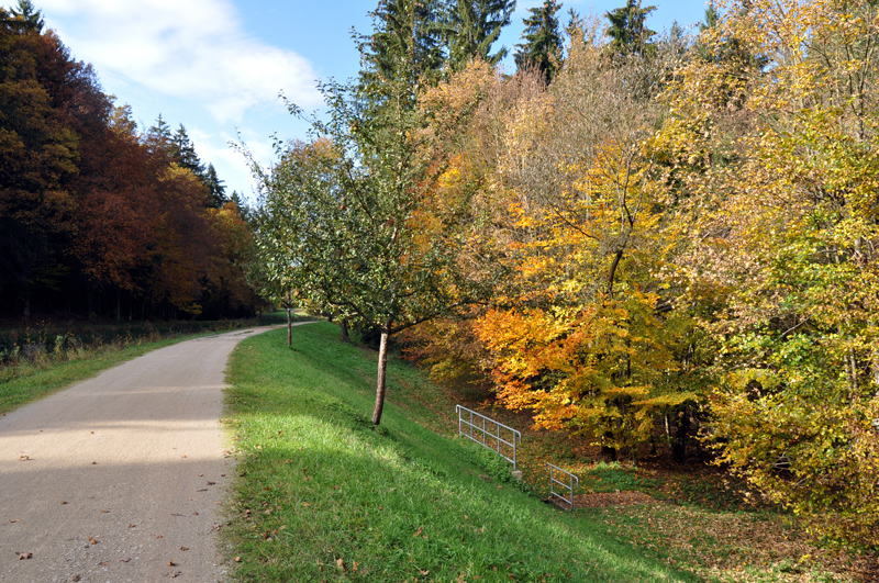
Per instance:
[[[0,330],[0,414],[91,378],[120,362],[189,338],[281,324],[286,314],[222,322],[133,325],[73,323]]]

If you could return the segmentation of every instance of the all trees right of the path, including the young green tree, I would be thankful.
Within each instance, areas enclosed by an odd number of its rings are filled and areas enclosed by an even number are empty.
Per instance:
[[[264,277],[610,458],[712,456],[879,547],[879,5],[700,30],[380,0],[255,210]],[[291,112],[299,113],[294,104]]]

